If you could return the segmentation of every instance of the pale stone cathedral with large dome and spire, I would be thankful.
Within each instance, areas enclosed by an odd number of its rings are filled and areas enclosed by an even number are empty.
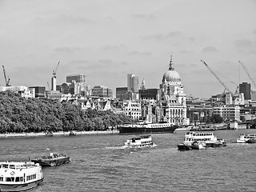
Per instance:
[[[158,102],[155,109],[157,122],[170,122],[174,125],[187,125],[186,94],[183,92],[181,78],[170,57],[169,70],[163,74],[159,86]]]

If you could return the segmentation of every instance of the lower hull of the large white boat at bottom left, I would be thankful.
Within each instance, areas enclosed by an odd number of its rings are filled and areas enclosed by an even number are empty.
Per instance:
[[[43,178],[41,178],[38,181],[30,182],[30,183],[22,183],[22,184],[0,184],[0,191],[9,191],[9,192],[14,192],[14,191],[24,191],[24,190],[30,190],[33,189],[34,187],[40,185],[43,181]]]

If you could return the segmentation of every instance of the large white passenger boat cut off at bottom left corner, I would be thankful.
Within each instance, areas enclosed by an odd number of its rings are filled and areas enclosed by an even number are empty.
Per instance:
[[[0,162],[0,191],[24,191],[43,181],[42,166],[34,162]]]

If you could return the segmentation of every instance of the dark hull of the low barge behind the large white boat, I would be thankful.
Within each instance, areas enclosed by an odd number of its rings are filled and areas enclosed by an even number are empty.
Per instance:
[[[61,157],[61,158],[53,158],[53,159],[33,159],[31,162],[39,163],[40,166],[60,166],[62,164],[66,164],[70,162],[70,157]]]

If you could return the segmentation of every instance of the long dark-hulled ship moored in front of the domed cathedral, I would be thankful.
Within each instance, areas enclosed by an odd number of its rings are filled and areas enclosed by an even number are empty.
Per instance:
[[[118,126],[120,134],[174,133],[178,126],[171,123],[123,124]]]

